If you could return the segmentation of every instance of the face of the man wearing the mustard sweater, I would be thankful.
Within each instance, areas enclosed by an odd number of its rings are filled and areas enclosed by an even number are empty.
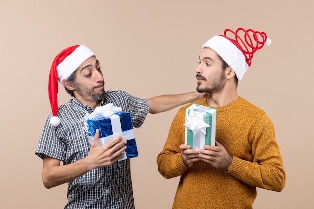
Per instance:
[[[226,79],[222,62],[217,53],[209,48],[204,48],[199,59],[199,66],[195,70],[197,73],[196,90],[208,93],[219,92],[223,88]]]

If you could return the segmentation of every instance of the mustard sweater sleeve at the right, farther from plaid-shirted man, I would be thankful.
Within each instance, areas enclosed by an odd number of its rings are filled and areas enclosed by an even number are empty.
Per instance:
[[[282,191],[286,174],[272,122],[262,114],[249,134],[253,161],[233,157],[228,173],[259,188]]]

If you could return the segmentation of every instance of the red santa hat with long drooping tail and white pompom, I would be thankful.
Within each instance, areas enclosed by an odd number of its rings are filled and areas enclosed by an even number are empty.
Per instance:
[[[52,110],[50,124],[57,127],[60,119],[56,116],[58,110],[58,81],[68,79],[88,58],[95,54],[84,45],[75,45],[62,50],[54,59],[49,74],[48,94]]]

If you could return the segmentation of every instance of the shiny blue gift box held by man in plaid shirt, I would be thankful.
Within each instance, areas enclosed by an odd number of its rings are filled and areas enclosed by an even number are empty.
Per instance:
[[[99,145],[104,145],[116,136],[122,135],[122,139],[127,140],[127,148],[125,156],[121,160],[138,156],[130,113],[117,112],[110,117],[87,119],[85,122],[89,143],[93,141],[96,129],[99,130]]]

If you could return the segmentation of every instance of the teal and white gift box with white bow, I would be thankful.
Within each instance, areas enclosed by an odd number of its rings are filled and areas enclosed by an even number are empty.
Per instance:
[[[215,146],[217,110],[199,104],[186,109],[185,144],[191,149],[203,149],[204,145]]]

